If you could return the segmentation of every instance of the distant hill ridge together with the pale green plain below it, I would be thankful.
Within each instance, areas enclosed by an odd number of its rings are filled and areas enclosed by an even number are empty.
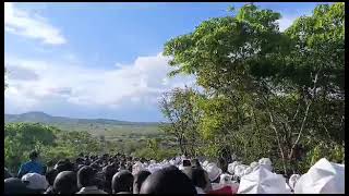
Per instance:
[[[56,126],[62,131],[88,132],[95,136],[104,135],[108,140],[134,140],[164,137],[157,122],[128,122],[108,119],[73,119],[52,117],[44,112],[4,114],[4,122],[38,122]]]

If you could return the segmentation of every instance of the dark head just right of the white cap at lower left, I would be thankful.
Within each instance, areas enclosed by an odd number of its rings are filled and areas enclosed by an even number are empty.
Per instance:
[[[76,173],[72,171],[60,172],[53,183],[53,189],[58,194],[74,194],[77,189]]]

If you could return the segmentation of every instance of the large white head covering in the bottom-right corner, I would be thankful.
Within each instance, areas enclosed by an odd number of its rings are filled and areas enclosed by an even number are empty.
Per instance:
[[[345,166],[320,159],[294,186],[296,194],[345,194]]]

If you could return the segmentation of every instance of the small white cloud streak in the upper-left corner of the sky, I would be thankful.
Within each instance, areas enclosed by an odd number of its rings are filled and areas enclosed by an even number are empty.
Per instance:
[[[4,2],[4,29],[8,33],[39,39],[48,45],[62,45],[67,39],[60,30],[37,13],[19,9],[12,2]]]

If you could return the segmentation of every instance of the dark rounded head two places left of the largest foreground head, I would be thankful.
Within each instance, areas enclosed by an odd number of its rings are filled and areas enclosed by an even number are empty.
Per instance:
[[[128,170],[122,170],[112,176],[112,193],[130,192],[132,193],[133,175]]]

